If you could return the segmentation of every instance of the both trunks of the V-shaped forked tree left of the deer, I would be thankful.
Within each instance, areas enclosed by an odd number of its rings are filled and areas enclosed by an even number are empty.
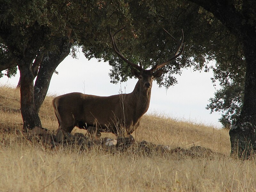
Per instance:
[[[27,132],[34,127],[42,128],[38,115],[44,101],[52,74],[62,60],[68,56],[71,43],[60,39],[56,51],[44,53],[44,59],[40,65],[36,83],[34,86],[35,68],[31,65],[33,58],[19,61],[20,70],[20,111],[23,119],[23,130]],[[58,50],[57,50],[58,49]],[[40,54],[43,54],[42,52]],[[38,54],[39,55],[39,54]],[[26,57],[24,57],[26,58]],[[35,65],[36,66],[36,65]]]

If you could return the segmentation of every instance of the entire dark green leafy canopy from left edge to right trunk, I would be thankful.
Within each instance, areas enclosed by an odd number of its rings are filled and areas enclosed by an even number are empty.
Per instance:
[[[241,10],[242,1],[230,3]],[[130,66],[112,50],[108,35],[110,24],[112,32],[126,25],[116,35],[117,45],[128,60],[133,63],[141,60],[143,68],[164,62],[175,52],[176,42],[163,28],[176,39],[181,37],[183,29],[185,50],[164,67],[164,75],[156,79],[157,84],[168,88],[177,83],[173,75],[181,74],[182,68],[204,71],[212,68],[212,81],[220,82],[223,88],[216,92],[208,108],[226,111],[224,126],[232,124],[232,118],[239,112],[236,107],[240,108],[241,102],[235,100],[237,94],[242,97],[242,93],[234,86],[239,82],[244,87],[245,76],[239,39],[212,13],[189,1],[3,0],[0,13],[0,67],[19,64],[28,51],[31,52],[30,63],[39,50],[58,52],[56,45],[64,39],[73,44],[71,54],[74,57],[77,48],[82,47],[88,59],[108,61],[112,66],[109,73],[112,83],[126,81],[132,75]],[[211,60],[216,60],[216,65],[212,65]],[[11,76],[14,70],[9,69],[6,74]]]

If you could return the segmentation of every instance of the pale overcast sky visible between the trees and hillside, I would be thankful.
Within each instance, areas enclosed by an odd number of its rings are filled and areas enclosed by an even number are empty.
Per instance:
[[[122,84],[110,83],[108,76],[110,66],[108,63],[97,62],[96,59],[88,61],[82,54],[79,59],[68,56],[57,67],[59,75],[53,74],[48,94],[61,95],[69,92],[82,92],[85,94],[109,96],[133,91],[137,79],[129,79]],[[181,76],[177,76],[178,84],[167,91],[159,88],[154,82],[151,92],[149,114],[164,114],[178,120],[203,123],[214,127],[221,127],[218,122],[220,114],[205,109],[209,99],[216,91],[212,85],[212,73],[193,72],[192,69],[184,69]],[[0,78],[0,85],[16,86],[19,80],[18,74],[11,79]]]

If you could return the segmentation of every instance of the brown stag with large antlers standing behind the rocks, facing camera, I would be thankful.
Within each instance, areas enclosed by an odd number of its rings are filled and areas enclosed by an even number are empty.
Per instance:
[[[126,27],[126,26],[125,26]],[[121,93],[112,96],[88,95],[80,92],[72,92],[57,96],[53,99],[52,105],[59,122],[58,130],[71,133],[75,126],[85,129],[90,133],[111,132],[116,136],[130,135],[139,124],[141,117],[148,111],[152,82],[155,78],[162,76],[163,68],[172,60],[181,55],[184,50],[184,34],[182,38],[176,40],[168,31],[164,31],[177,41],[176,52],[165,62],[158,62],[151,69],[142,68],[127,60],[119,51],[115,36],[125,27],[111,34],[109,26],[108,32],[114,52],[131,67],[131,73],[138,78],[134,90],[131,93]]]

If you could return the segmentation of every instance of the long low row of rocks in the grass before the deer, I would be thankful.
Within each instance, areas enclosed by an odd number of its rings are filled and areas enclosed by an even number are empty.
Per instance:
[[[37,140],[41,142],[44,147],[59,149],[69,148],[80,151],[97,149],[100,151],[108,151],[111,153],[129,151],[133,154],[142,155],[166,155],[173,154],[179,158],[190,156],[197,157],[213,157],[223,156],[223,154],[215,153],[211,149],[203,148],[200,146],[193,146],[189,149],[183,148],[170,148],[166,145],[156,145],[147,141],[135,141],[132,135],[128,137],[99,138],[92,139],[83,133],[70,134],[62,130],[57,132],[50,132],[47,129],[34,128],[25,136],[28,140]]]

